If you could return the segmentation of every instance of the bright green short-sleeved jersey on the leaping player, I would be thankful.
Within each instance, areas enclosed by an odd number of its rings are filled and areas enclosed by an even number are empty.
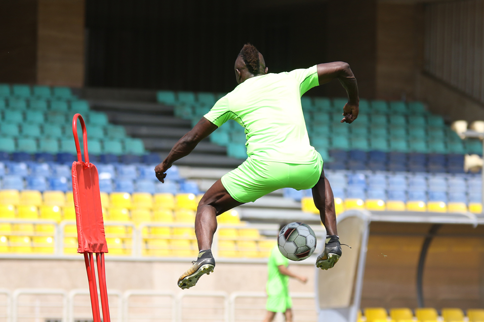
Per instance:
[[[252,159],[309,164],[309,143],[301,95],[318,86],[317,67],[251,77],[215,103],[204,117],[220,127],[233,119],[245,128]]]

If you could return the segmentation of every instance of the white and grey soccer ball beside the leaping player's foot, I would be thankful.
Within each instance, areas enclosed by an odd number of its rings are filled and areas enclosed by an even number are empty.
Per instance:
[[[316,235],[305,223],[291,222],[281,229],[277,243],[284,257],[299,261],[313,254],[316,249]]]

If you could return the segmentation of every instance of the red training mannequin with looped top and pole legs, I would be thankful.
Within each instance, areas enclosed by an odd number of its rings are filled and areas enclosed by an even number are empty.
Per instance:
[[[81,121],[82,141],[84,145],[84,161],[82,161],[81,145],[79,144],[77,120]],[[78,231],[78,252],[84,254],[84,263],[89,283],[91,298],[92,319],[101,322],[99,312],[99,300],[96,286],[96,268],[94,256],[96,253],[97,275],[99,277],[99,293],[101,295],[101,307],[104,322],[111,322],[109,316],[108,290],[106,287],[106,270],[104,265],[104,253],[108,252],[106,236],[104,234],[104,221],[101,207],[101,195],[99,192],[99,177],[97,168],[89,163],[87,151],[87,130],[81,114],[74,115],[72,119],[72,133],[78,161],[72,164],[72,191],[74,207],[76,208],[76,225]]]

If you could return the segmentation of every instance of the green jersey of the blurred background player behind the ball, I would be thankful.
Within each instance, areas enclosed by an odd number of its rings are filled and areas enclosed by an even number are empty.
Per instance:
[[[269,256],[267,262],[267,295],[284,295],[289,293],[289,276],[283,275],[279,272],[278,266],[283,265],[287,267],[289,260],[285,258],[279,247],[276,245]]]

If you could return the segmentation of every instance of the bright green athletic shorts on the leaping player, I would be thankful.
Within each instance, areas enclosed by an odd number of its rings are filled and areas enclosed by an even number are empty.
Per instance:
[[[222,184],[238,202],[253,202],[281,188],[311,189],[323,171],[323,158],[310,164],[293,164],[247,158],[237,169],[222,177]]]

